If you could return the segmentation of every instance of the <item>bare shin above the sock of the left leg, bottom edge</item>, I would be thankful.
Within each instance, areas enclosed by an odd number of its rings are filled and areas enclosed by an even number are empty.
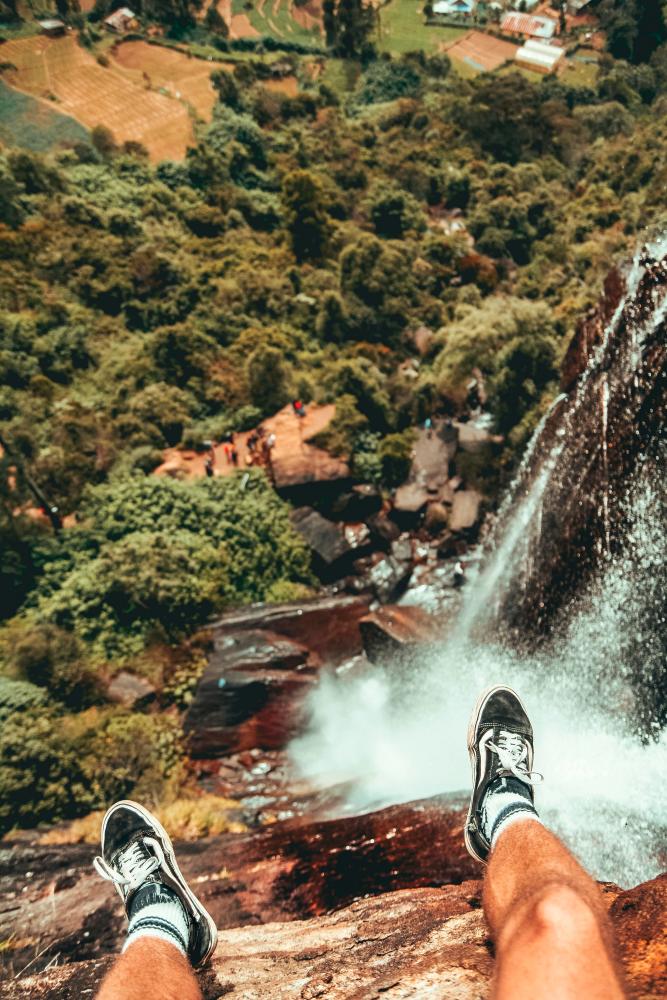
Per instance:
[[[192,967],[159,938],[134,941],[107,973],[97,1000],[202,1000]]]

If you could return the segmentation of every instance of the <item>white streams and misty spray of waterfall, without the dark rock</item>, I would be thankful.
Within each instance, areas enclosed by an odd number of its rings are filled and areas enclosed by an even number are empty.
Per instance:
[[[654,256],[665,251],[664,238],[649,245]],[[655,477],[638,474],[628,494],[631,527],[622,552],[607,560],[603,575],[570,609],[567,629],[548,651],[522,656],[500,648],[489,641],[489,623],[510,584],[527,579],[545,495],[559,474],[559,463],[567,461],[567,441],[578,432],[590,380],[607,360],[611,334],[643,273],[637,254],[627,294],[574,396],[556,401],[563,404],[563,413],[547,453],[540,454],[542,435],[535,435],[499,513],[500,541],[472,581],[449,641],[418,665],[323,676],[311,701],[308,731],[291,747],[301,775],[320,788],[342,788],[348,810],[443,792],[464,795],[470,782],[469,713],[483,688],[510,684],[522,695],[535,728],[536,766],[546,776],[537,793],[540,812],[597,878],[623,886],[665,867],[667,733],[642,742],[630,721],[637,707],[631,653],[646,643],[648,686],[653,665],[663,655],[661,649],[648,648],[650,629],[643,625],[643,592],[667,562],[664,498]],[[656,302],[644,324],[633,324],[628,353],[635,365],[646,334],[664,321],[666,303]],[[609,384],[604,385],[606,449]],[[609,552],[608,510],[604,517]]]

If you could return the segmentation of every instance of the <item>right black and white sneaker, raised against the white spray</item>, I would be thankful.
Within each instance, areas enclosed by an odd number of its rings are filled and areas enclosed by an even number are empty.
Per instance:
[[[468,753],[472,795],[464,839],[468,853],[484,864],[491,850],[484,822],[487,793],[508,786],[508,791],[527,800],[524,808],[534,810],[533,785],[542,780],[532,770],[533,727],[512,688],[497,685],[480,695],[468,726]]]

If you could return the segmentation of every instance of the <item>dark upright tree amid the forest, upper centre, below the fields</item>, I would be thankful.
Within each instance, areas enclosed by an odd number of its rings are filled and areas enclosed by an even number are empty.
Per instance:
[[[331,224],[324,208],[324,188],[308,170],[295,170],[283,182],[287,228],[296,259],[322,260],[327,251]]]

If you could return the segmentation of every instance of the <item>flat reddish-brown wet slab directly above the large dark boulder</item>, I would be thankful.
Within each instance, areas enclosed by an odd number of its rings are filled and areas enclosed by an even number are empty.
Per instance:
[[[359,621],[368,613],[369,597],[318,597],[288,604],[260,604],[230,611],[211,626],[213,634],[227,629],[269,629],[294,639],[325,663],[343,663],[361,652]]]

